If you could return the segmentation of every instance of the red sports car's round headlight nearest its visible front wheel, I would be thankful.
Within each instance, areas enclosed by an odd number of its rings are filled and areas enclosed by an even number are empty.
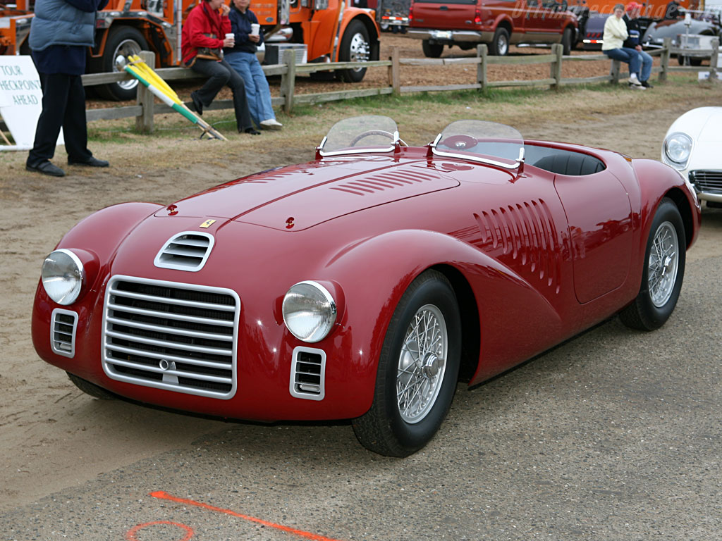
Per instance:
[[[283,298],[283,320],[299,340],[318,342],[336,322],[336,302],[320,283],[299,282]]]

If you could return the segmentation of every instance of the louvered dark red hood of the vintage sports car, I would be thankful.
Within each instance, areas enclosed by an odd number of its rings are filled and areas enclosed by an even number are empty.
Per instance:
[[[341,157],[232,180],[181,199],[155,215],[230,219],[298,231],[365,208],[458,185],[425,160]]]

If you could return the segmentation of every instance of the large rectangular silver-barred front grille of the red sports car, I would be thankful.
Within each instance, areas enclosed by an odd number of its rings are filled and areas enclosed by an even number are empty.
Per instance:
[[[236,389],[240,299],[230,289],[113,276],[105,294],[109,377],[191,395]]]

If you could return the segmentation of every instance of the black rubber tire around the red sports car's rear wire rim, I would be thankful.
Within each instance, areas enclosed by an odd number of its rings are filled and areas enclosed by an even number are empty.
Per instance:
[[[665,221],[669,221],[669,223],[674,226],[674,231],[677,234],[677,276],[674,278],[674,289],[672,289],[672,293],[669,299],[667,299],[667,302],[661,307],[656,307],[649,293],[649,255],[651,254],[652,243],[657,229],[659,229],[659,226]],[[672,201],[663,199],[661,203],[659,203],[654,219],[652,220],[652,226],[649,230],[647,247],[644,252],[642,285],[638,297],[640,315],[652,328],[661,327],[661,325],[669,319],[671,313],[674,312],[674,307],[677,306],[679,292],[682,290],[682,281],[684,279],[684,264],[687,255],[686,245],[682,216],[680,216],[677,206]]]

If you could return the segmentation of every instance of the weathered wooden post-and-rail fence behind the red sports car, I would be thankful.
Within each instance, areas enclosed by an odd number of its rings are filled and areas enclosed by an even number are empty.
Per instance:
[[[715,45],[717,43],[717,45]],[[659,66],[653,68],[653,73],[658,74],[660,82],[666,80],[669,71],[710,71],[710,79],[718,77],[716,66],[718,58],[718,40],[713,41],[711,50],[696,51],[697,54],[704,54],[710,58],[710,67],[707,66],[670,66],[671,54],[689,53],[689,51],[675,50],[671,48],[671,40],[665,40],[661,49],[651,51],[653,56],[660,56]],[[155,65],[153,53],[144,51],[141,53],[144,61],[149,66]],[[477,55],[465,58],[399,58],[399,48],[393,48],[391,57],[388,60],[370,62],[332,62],[332,63],[295,63],[295,53],[292,50],[284,51],[281,64],[263,66],[266,76],[280,75],[281,87],[280,97],[272,97],[272,105],[280,106],[287,113],[292,112],[294,105],[303,103],[319,103],[334,100],[348,100],[355,97],[376,96],[380,94],[405,94],[409,92],[440,92],[461,89],[479,89],[484,91],[494,87],[539,87],[549,86],[552,89],[559,89],[565,84],[589,84],[598,82],[609,82],[617,84],[620,78],[629,76],[621,71],[621,63],[612,61],[610,73],[607,75],[593,77],[562,78],[562,63],[566,62],[589,62],[609,60],[604,54],[562,56],[562,45],[552,45],[552,52],[549,54],[529,56],[489,56],[487,45],[477,46]],[[514,81],[490,81],[487,77],[487,66],[490,65],[529,65],[549,64],[549,77],[546,79],[514,80]],[[446,84],[433,86],[404,86],[401,84],[401,66],[452,66],[467,64],[477,66],[476,81],[470,84]],[[339,92],[323,92],[316,94],[295,94],[295,78],[297,74],[310,74],[315,71],[327,71],[336,69],[352,69],[356,67],[377,68],[385,67],[388,70],[388,87],[365,88],[342,90]],[[159,74],[166,81],[178,81],[181,79],[198,79],[193,71],[183,68],[162,68],[157,69]],[[131,79],[126,73],[87,74],[82,76],[84,86],[96,84],[108,84],[112,82]],[[191,105],[189,102],[187,105]],[[230,109],[233,107],[232,100],[214,100],[207,107],[207,110]],[[171,113],[173,110],[165,104],[155,103],[155,97],[148,89],[141,84],[138,85],[138,97],[136,105],[126,107],[112,107],[108,109],[91,109],[86,111],[87,120],[111,120],[117,118],[136,118],[136,128],[142,132],[153,131],[153,118],[157,114]]]

